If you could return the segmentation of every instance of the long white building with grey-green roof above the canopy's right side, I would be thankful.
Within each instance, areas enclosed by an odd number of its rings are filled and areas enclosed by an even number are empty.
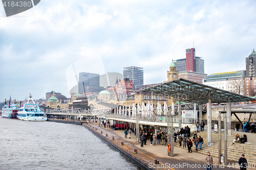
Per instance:
[[[230,92],[244,94],[243,87],[245,72],[245,70],[239,70],[211,74],[204,78],[203,84]]]

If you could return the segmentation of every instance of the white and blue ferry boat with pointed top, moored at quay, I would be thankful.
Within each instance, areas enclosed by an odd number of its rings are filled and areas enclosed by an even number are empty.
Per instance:
[[[37,104],[32,99],[32,95],[29,95],[28,102],[23,106],[18,108],[17,117],[21,120],[28,121],[46,121],[47,117],[44,115]]]

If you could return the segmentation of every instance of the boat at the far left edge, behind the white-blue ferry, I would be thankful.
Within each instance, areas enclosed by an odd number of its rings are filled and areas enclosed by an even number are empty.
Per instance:
[[[11,104],[11,102],[9,101],[9,104],[6,104],[6,99],[5,99],[5,105],[2,108],[2,117],[5,118],[17,118],[17,110],[18,109],[18,105],[15,104]]]

